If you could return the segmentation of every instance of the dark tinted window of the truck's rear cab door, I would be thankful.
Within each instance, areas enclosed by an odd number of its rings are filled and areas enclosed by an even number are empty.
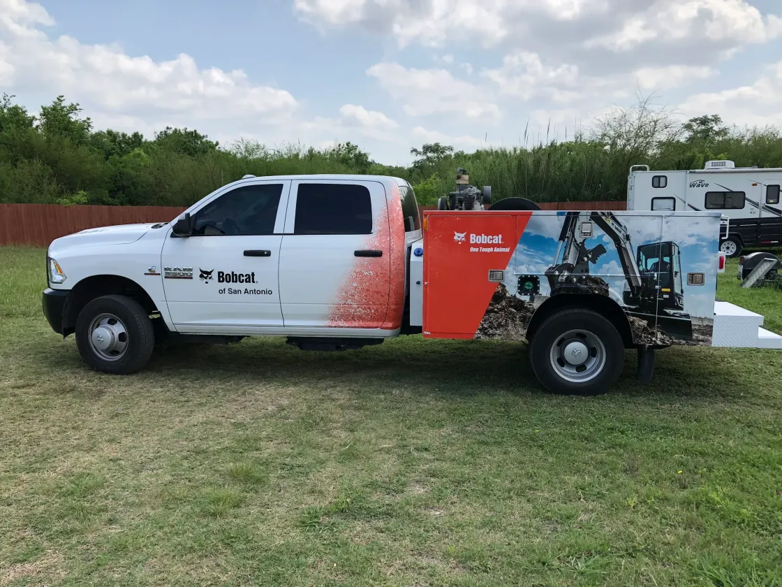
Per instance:
[[[294,234],[371,234],[372,200],[364,185],[303,183]]]

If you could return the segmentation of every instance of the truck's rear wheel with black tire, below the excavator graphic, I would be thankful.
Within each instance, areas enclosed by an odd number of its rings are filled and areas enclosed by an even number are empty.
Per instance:
[[[569,348],[573,363],[564,360],[565,348]],[[625,345],[608,319],[591,310],[571,308],[543,321],[530,342],[529,360],[548,391],[596,395],[619,379]]]

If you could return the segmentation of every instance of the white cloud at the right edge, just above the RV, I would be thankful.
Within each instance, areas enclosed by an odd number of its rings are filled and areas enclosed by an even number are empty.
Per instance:
[[[780,95],[782,61],[767,67],[766,74],[752,85],[691,95],[679,105],[679,110],[687,116],[719,113],[724,120],[734,124],[782,124]]]

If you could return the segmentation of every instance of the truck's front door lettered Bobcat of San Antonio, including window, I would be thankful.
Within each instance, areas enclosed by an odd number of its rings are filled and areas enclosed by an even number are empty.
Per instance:
[[[278,266],[289,181],[253,181],[192,211],[194,234],[163,245],[163,288],[180,332],[282,327]]]

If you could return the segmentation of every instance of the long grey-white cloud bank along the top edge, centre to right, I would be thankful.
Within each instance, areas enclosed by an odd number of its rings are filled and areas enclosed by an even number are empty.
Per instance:
[[[746,0],[295,0],[294,6],[318,26],[357,24],[393,35],[400,46],[472,38],[486,46],[529,48],[533,38],[622,52],[652,40],[741,46],[782,34],[782,20],[763,16]],[[579,21],[582,26],[569,26]]]

